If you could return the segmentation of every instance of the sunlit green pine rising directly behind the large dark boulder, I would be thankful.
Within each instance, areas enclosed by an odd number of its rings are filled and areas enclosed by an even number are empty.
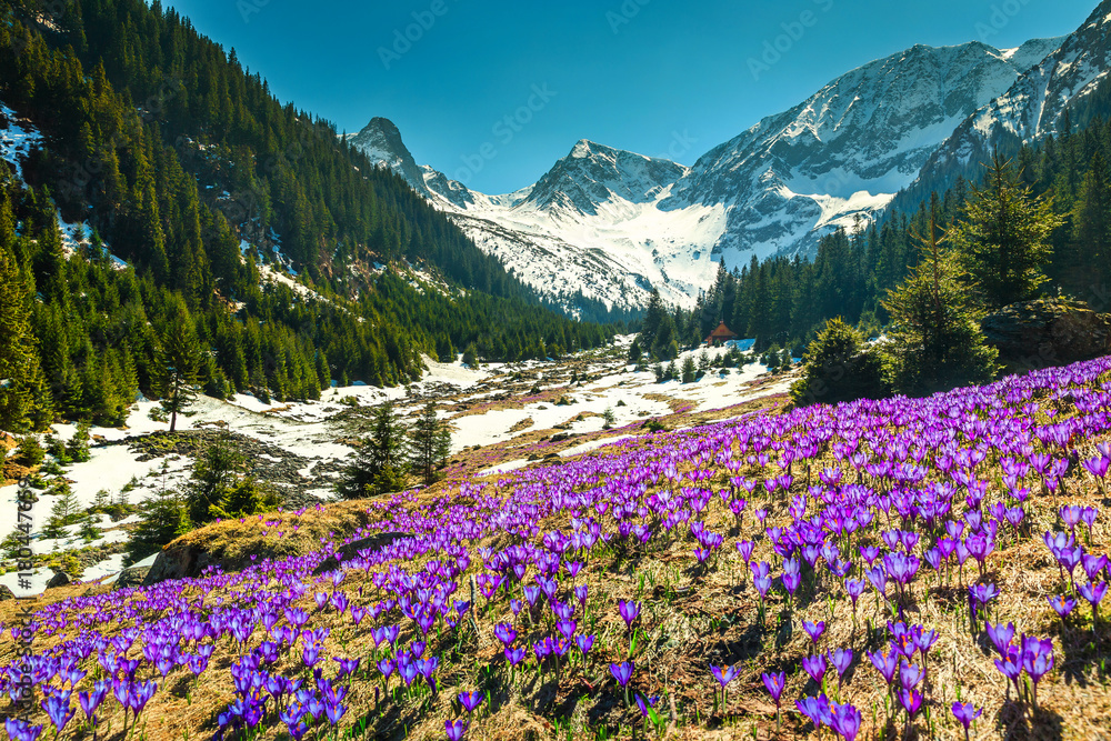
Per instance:
[[[1061,223],[1052,209],[1019,182],[1010,160],[992,158],[950,237],[988,308],[1031,299],[1048,280],[1049,237]]]

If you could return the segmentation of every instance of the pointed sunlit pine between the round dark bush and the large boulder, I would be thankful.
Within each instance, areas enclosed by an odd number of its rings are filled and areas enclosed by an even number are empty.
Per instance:
[[[998,370],[999,352],[987,344],[980,314],[968,299],[955,257],[940,246],[935,214],[924,254],[911,274],[889,291],[894,390],[928,394],[959,385],[987,383]]]

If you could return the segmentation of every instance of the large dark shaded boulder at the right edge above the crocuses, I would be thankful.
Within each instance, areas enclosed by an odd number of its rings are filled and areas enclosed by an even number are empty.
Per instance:
[[[1047,368],[1111,354],[1111,316],[1080,302],[1039,299],[1004,307],[980,327],[1012,368]]]

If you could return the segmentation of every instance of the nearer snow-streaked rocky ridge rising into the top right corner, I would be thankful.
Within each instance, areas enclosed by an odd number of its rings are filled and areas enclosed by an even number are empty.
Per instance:
[[[995,148],[1008,151],[1060,131],[1065,108],[1092,92],[1111,70],[1111,0],[1019,78],[981,107],[938,149],[923,179],[959,172],[985,161]]]

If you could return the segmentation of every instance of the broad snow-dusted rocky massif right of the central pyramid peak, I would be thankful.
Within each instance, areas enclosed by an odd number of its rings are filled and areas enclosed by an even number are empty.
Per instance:
[[[1059,43],[917,46],[865,64],[708,152],[675,202],[728,206],[714,252],[729,263],[811,252],[822,233],[871,219],[961,121]]]

